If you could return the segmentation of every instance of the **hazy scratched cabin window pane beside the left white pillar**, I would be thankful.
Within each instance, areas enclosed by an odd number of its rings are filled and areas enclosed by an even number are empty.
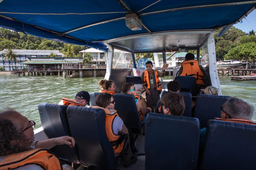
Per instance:
[[[112,69],[130,68],[132,53],[120,49],[114,49]]]

